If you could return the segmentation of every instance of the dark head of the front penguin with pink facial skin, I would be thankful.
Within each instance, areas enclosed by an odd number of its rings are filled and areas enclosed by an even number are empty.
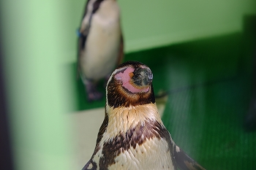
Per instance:
[[[130,107],[155,102],[151,69],[138,61],[122,63],[106,86],[110,107]]]

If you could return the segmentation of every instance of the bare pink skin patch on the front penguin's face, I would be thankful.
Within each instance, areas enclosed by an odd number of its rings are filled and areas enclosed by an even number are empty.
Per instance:
[[[132,93],[142,93],[147,92],[149,90],[149,87],[147,88],[135,88],[129,81],[131,80],[131,77],[129,77],[129,74],[132,73],[135,69],[128,67],[123,73],[120,72],[116,74],[115,78],[116,80],[122,81],[122,86],[129,90]]]

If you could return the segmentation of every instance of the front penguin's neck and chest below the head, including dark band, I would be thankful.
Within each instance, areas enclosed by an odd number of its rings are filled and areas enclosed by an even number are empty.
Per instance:
[[[120,109],[106,107],[106,110],[111,112],[108,128],[102,135],[93,162],[100,164],[100,159],[111,160],[107,163],[109,170],[174,170],[170,153],[172,148],[166,141],[170,138],[159,135],[163,126],[155,104]],[[146,120],[145,117],[161,123],[157,126],[148,125],[147,121],[151,120]],[[167,132],[167,135],[170,134]]]

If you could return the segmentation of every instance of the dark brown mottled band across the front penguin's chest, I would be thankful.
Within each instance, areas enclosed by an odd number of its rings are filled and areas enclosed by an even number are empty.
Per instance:
[[[100,169],[108,169],[115,163],[115,158],[124,152],[129,150],[130,147],[135,149],[136,145],[139,146],[153,138],[165,139],[170,145],[170,153],[173,152],[173,146],[170,141],[170,134],[161,123],[154,120],[145,120],[143,124],[138,124],[134,128],[130,128],[126,133],[120,133],[110,141],[105,142],[102,148],[102,158],[99,159]],[[172,157],[173,158],[173,157]],[[173,160],[173,166],[176,167]]]

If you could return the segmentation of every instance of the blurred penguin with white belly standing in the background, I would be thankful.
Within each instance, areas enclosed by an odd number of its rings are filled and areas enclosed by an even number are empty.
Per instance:
[[[97,82],[108,80],[123,59],[120,10],[116,0],[88,0],[78,39],[78,72],[89,101],[102,98]]]

